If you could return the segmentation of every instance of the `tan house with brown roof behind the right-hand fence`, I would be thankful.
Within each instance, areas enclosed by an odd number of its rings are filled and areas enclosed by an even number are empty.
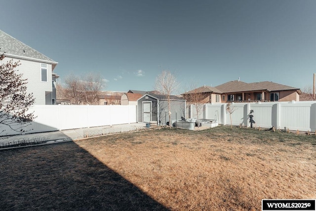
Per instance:
[[[202,86],[183,93],[185,99],[203,93],[201,102],[257,102],[257,101],[300,101],[299,88],[273,82],[244,83],[239,80],[227,82],[215,87]],[[190,96],[191,95],[191,96]]]

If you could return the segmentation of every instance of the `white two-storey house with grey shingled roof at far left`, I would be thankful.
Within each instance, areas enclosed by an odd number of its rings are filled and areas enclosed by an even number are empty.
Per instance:
[[[6,63],[13,59],[20,61],[17,67],[23,79],[27,79],[27,93],[33,93],[36,105],[53,105],[56,103],[55,82],[58,76],[53,73],[58,64],[32,47],[18,41],[0,30],[0,54]]]

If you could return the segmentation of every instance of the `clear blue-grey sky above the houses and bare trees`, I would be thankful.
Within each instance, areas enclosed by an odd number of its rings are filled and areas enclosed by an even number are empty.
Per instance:
[[[272,81],[316,73],[316,0],[3,0],[0,29],[70,73],[101,73],[104,90]]]

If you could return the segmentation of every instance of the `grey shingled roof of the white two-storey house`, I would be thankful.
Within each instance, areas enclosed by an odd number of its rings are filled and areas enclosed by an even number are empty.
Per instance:
[[[13,38],[0,30],[0,53],[7,56],[25,58],[31,60],[40,60],[52,64],[58,64],[51,58],[45,56],[34,48],[24,44],[23,42]]]

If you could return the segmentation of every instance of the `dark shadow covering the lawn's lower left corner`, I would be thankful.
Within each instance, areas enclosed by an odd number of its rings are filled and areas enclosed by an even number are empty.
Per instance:
[[[0,153],[1,210],[167,210],[74,142]]]

